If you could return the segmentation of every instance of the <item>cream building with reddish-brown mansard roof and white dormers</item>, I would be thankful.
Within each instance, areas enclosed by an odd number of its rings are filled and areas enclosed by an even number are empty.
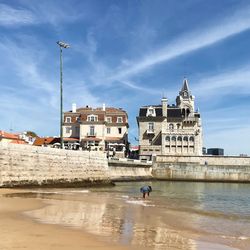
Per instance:
[[[76,108],[64,113],[63,137],[78,140],[83,150],[107,151],[123,157],[128,148],[128,115],[120,108]]]

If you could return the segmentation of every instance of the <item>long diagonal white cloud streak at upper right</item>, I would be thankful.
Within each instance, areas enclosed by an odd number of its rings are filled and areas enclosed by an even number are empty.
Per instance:
[[[211,27],[202,27],[201,30],[180,36],[165,47],[151,52],[144,58],[131,62],[129,67],[120,67],[118,73],[110,79],[125,79],[148,70],[159,63],[174,59],[178,56],[210,46],[230,36],[250,29],[250,8],[235,12]]]

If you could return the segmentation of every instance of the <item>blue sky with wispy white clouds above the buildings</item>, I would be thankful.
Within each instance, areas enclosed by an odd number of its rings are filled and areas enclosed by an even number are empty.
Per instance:
[[[250,1],[0,0],[0,130],[60,130],[64,111],[120,107],[129,139],[143,105],[170,104],[184,77],[207,148],[250,155]]]

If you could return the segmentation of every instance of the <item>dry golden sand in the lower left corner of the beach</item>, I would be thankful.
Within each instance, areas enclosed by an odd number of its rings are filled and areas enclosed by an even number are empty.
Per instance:
[[[6,198],[2,196],[3,194],[17,192],[23,192],[23,190],[0,189],[1,250],[128,249],[123,246],[108,244],[80,230],[40,224],[23,216],[22,212],[41,208],[44,204],[38,199]]]

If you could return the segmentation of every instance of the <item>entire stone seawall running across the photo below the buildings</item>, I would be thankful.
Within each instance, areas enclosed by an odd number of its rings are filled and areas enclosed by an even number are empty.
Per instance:
[[[96,151],[0,143],[0,187],[76,187],[149,179],[250,183],[250,157],[157,156],[152,164],[108,161]]]

